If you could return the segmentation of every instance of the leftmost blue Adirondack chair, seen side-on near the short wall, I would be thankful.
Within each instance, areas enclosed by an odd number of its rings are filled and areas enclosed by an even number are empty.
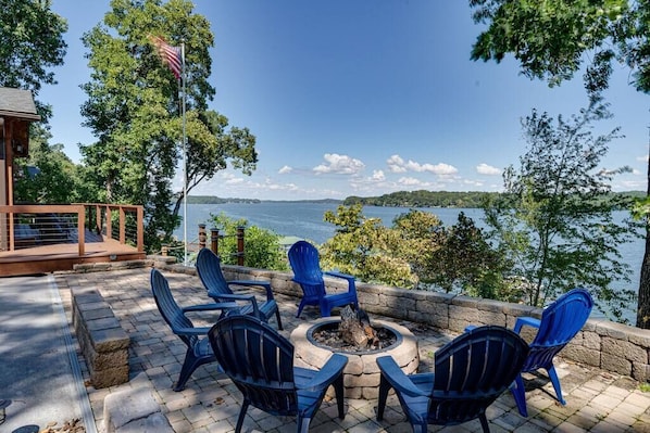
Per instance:
[[[186,314],[190,311],[212,310],[222,310],[223,313],[229,308],[236,308],[237,304],[203,304],[182,308],[174,300],[174,296],[170,290],[170,283],[167,282],[167,279],[160,272],[160,270],[151,269],[150,277],[151,291],[160,314],[165,322],[167,322],[170,328],[172,328],[172,332],[178,335],[178,338],[187,346],[185,360],[183,361],[183,367],[180,368],[180,374],[174,384],[174,391],[182,391],[185,389],[185,384],[191,377],[192,372],[199,366],[216,361],[208,340],[208,331],[210,328],[196,328]]]

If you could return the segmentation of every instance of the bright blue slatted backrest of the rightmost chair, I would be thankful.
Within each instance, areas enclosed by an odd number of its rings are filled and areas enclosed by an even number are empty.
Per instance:
[[[558,297],[541,315],[539,330],[530,343],[530,356],[524,371],[548,366],[585,326],[593,300],[584,289],[574,289]]]

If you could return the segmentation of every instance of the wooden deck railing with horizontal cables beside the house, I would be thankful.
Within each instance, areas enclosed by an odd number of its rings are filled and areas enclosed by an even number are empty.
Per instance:
[[[0,206],[0,251],[85,243],[105,237],[145,251],[142,206],[99,203]],[[92,239],[88,239],[92,238]]]

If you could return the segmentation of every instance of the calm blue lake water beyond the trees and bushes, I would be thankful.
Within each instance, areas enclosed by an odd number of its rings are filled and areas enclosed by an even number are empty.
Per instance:
[[[293,202],[263,202],[263,203],[225,203],[225,204],[189,204],[187,205],[187,237],[188,240],[198,239],[199,224],[207,224],[210,229],[210,215],[224,213],[230,218],[245,218],[249,225],[273,230],[280,235],[295,235],[308,239],[316,243],[323,243],[332,238],[335,226],[325,222],[323,216],[326,211],[336,212],[337,204],[325,203],[293,203]],[[462,211],[472,218],[478,227],[483,226],[483,211],[476,208],[422,208],[422,211],[436,214],[445,226],[452,226],[457,222],[458,214]],[[377,207],[364,206],[363,215],[366,217],[382,218],[386,226],[390,226],[392,219],[409,212],[405,207]],[[183,214],[183,208],[182,208]],[[621,213],[622,217],[624,213]],[[178,239],[183,239],[183,227],[175,232]],[[621,245],[623,259],[632,268],[632,283],[621,282],[618,286],[629,285],[628,289],[637,291],[639,270],[643,258],[643,240]],[[633,311],[625,314],[633,323],[636,318]]]

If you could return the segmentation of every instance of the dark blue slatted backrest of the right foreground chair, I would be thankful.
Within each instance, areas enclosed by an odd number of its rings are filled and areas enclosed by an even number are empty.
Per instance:
[[[514,381],[528,345],[513,331],[495,326],[463,333],[435,354],[429,418],[436,423],[474,419]]]

